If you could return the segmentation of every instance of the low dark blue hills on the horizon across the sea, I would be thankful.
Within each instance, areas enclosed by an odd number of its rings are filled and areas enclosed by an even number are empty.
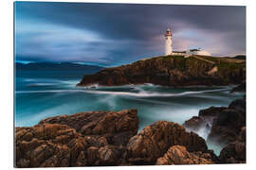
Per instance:
[[[23,71],[101,71],[104,67],[96,65],[85,65],[71,62],[16,62],[16,70]]]

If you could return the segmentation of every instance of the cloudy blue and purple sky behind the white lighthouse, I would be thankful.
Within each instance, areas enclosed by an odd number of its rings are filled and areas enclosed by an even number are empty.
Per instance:
[[[105,67],[174,50],[246,54],[246,7],[15,2],[16,62],[76,62]]]

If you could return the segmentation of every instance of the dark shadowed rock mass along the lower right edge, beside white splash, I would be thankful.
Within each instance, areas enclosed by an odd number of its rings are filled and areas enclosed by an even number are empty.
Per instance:
[[[222,145],[220,163],[246,162],[246,97],[232,101],[229,107],[210,107],[200,110],[199,116],[194,116],[184,123],[184,127],[197,131],[201,127],[210,127],[207,141]]]

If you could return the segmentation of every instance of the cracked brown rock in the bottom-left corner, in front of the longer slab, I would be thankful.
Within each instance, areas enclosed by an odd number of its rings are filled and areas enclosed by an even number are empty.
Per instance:
[[[16,165],[18,167],[27,167],[27,164],[29,167],[51,166],[52,164],[68,166],[69,162],[63,161],[70,159],[70,150],[66,144],[80,136],[81,134],[77,133],[74,128],[60,124],[17,127],[15,133]],[[62,164],[64,162],[66,164]]]

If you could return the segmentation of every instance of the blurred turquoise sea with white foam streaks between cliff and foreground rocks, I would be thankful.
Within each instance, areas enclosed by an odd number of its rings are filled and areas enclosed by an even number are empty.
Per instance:
[[[49,116],[90,110],[137,109],[139,131],[155,121],[182,125],[210,106],[229,106],[245,93],[229,93],[233,86],[171,88],[153,84],[77,87],[86,71],[16,71],[15,127],[31,127]],[[189,129],[188,129],[189,130]],[[200,129],[207,139],[210,131]],[[223,145],[208,144],[218,155]]]

